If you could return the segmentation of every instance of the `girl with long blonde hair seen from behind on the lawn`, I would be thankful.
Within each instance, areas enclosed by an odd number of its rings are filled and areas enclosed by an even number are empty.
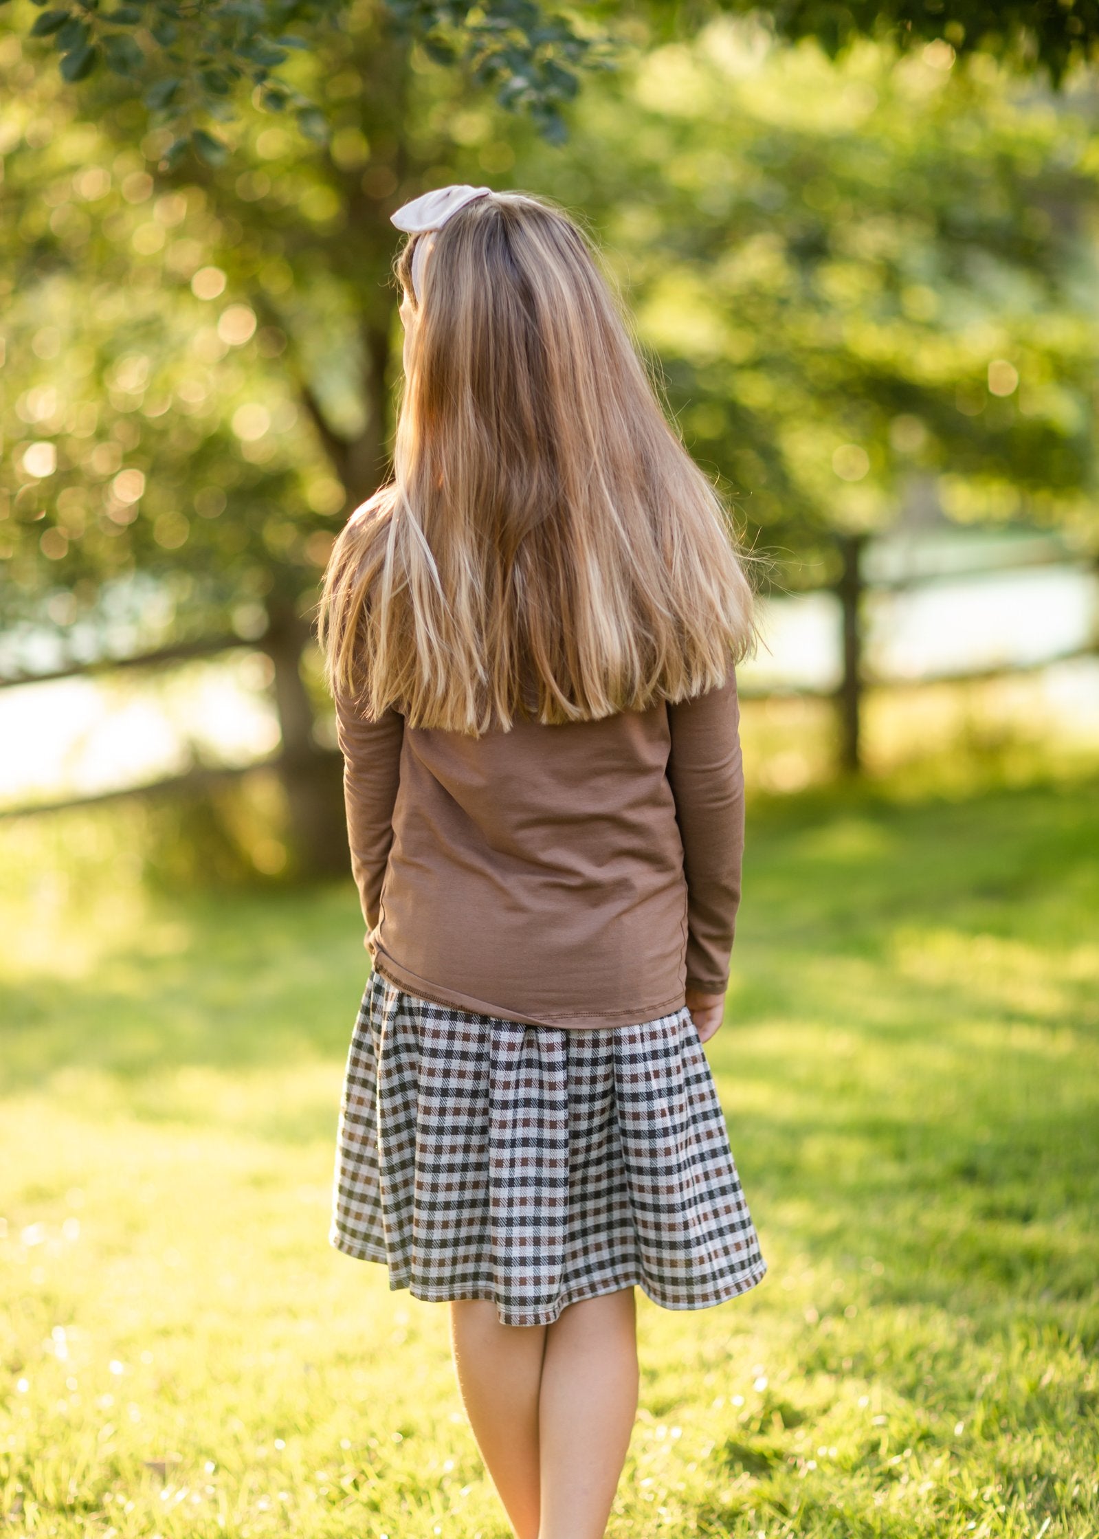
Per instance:
[[[449,1302],[519,1539],[599,1539],[634,1287],[697,1310],[767,1271],[702,1051],[751,593],[577,228],[468,186],[392,222],[394,479],[320,617],[372,959],[331,1239]]]

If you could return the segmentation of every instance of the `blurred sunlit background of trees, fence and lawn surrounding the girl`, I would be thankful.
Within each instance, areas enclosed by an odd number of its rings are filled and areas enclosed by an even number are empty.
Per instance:
[[[132,9],[88,72],[83,12],[0,8],[0,1519],[508,1533],[442,1311],[326,1247],[368,962],[312,625],[389,212],[471,182],[583,222],[760,594],[708,1057],[771,1273],[640,1300],[608,1534],[1099,1533],[1094,69],[976,0],[904,51],[580,6],[557,142],[356,0],[297,106],[203,66],[177,155]]]

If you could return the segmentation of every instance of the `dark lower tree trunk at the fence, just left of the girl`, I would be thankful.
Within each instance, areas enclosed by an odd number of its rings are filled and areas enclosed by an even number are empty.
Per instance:
[[[309,626],[289,603],[272,603],[268,620],[263,649],[274,665],[282,728],[279,774],[289,808],[294,866],[303,876],[343,876],[349,859],[342,762],[314,737],[312,702],[302,679]]]

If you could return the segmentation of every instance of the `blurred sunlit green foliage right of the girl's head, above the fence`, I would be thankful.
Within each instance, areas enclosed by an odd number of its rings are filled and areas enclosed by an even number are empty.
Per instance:
[[[719,23],[520,162],[591,211],[690,448],[783,580],[904,502],[1096,539],[1096,97],[951,63]]]

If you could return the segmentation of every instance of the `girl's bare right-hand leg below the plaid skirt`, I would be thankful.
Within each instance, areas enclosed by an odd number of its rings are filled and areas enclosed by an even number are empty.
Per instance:
[[[570,1304],[545,1331],[537,1539],[603,1539],[637,1414],[634,1290]]]

